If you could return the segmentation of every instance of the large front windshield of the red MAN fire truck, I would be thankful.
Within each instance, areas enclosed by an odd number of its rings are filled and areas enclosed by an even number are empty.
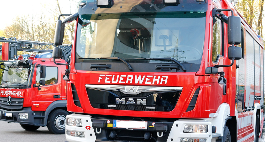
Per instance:
[[[182,63],[200,64],[205,20],[205,13],[198,12],[80,15],[76,62],[101,57],[120,57],[126,61],[169,57]]]

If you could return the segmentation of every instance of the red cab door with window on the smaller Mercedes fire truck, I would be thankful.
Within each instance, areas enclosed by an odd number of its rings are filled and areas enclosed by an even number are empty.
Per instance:
[[[34,71],[32,110],[45,111],[56,100],[61,100],[61,83],[58,81],[58,68],[55,65],[46,65],[46,76],[41,78],[41,65],[37,65]],[[40,85],[40,81],[44,81]]]

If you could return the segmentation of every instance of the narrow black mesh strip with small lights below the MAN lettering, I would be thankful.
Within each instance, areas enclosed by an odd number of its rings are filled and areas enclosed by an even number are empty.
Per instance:
[[[111,104],[111,106],[114,105]],[[151,107],[154,109],[151,109]],[[115,107],[108,107],[108,105],[106,105],[106,108],[116,110],[157,111],[157,106],[115,105]]]

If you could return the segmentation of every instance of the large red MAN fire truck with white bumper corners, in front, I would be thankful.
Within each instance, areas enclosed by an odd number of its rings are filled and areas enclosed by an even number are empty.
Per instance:
[[[263,44],[230,2],[84,0],[55,45],[73,20],[69,142],[258,141]]]

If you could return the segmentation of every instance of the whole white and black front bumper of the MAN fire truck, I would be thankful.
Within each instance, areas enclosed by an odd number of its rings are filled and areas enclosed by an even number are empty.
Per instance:
[[[179,142],[181,138],[191,139],[206,139],[210,142],[212,139],[212,124],[205,120],[176,120],[174,122],[149,122],[147,129],[128,129],[128,128],[113,128],[113,120],[108,119],[95,119],[91,118],[90,115],[71,114],[67,115],[66,118],[77,118],[81,119],[82,127],[66,125],[65,130],[83,132],[84,138],[70,136],[66,134],[66,139],[69,142],[110,142],[110,141],[147,141],[147,142]],[[96,133],[96,128],[92,127],[92,122],[95,120],[106,121],[106,125],[101,129],[101,133]],[[107,123],[110,122],[110,123]],[[157,131],[153,128],[153,123],[167,124],[167,131],[157,134]],[[207,133],[184,133],[184,127],[186,124],[206,124],[208,125]],[[115,131],[117,135],[114,138],[110,137],[110,134]],[[99,132],[99,129],[97,129]],[[146,133],[150,133],[148,139],[144,139]]]

